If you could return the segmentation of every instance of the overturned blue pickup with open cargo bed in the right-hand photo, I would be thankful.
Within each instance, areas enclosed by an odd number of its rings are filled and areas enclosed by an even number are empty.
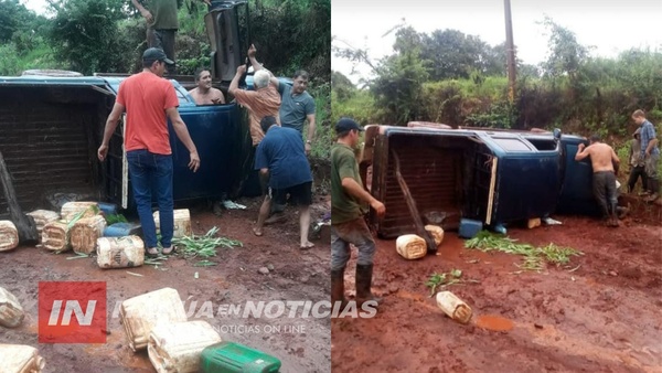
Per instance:
[[[420,215],[442,216],[445,230],[461,219],[499,231],[555,212],[595,214],[590,162],[574,159],[581,142],[559,130],[367,126],[362,178],[386,206],[371,223],[386,238],[412,233],[410,200]]]

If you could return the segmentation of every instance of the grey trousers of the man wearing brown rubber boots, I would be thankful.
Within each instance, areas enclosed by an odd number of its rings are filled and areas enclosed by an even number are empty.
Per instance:
[[[373,264],[375,241],[363,217],[331,225],[331,270],[344,268],[350,260],[350,244],[356,246],[356,264]]]

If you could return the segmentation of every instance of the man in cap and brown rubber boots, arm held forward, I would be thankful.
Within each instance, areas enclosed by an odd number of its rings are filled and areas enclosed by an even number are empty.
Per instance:
[[[372,196],[364,188],[359,173],[354,147],[359,143],[360,131],[354,120],[341,118],[335,125],[338,142],[331,148],[331,301],[333,305],[344,299],[344,270],[350,259],[350,244],[357,251],[356,259],[356,306],[373,301],[375,307],[381,299],[371,291],[375,242],[363,215],[367,205],[378,216],[384,216],[384,204]]]

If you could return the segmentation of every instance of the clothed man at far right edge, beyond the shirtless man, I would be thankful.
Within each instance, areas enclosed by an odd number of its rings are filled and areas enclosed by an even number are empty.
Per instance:
[[[648,179],[647,191],[651,194],[645,201],[653,202],[660,196],[660,180],[658,177],[660,149],[658,148],[655,127],[645,118],[643,110],[632,113],[632,120],[641,128],[640,156],[644,161],[645,177]]]

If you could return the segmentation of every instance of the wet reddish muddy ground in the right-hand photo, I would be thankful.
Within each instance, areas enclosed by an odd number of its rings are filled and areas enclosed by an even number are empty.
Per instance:
[[[542,273],[519,273],[513,255],[467,249],[453,232],[439,255],[412,262],[395,241],[378,241],[373,291],[385,302],[373,319],[332,320],[332,371],[662,372],[660,207],[629,201],[633,216],[619,228],[578,216],[509,228],[523,243],[585,253]],[[453,268],[480,281],[447,288],[472,308],[469,324],[446,317],[425,286]]]

